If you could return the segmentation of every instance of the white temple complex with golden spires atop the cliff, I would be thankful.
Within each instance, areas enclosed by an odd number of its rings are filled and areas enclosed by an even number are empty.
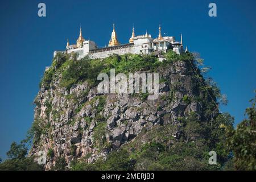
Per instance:
[[[80,27],[80,35],[76,41],[76,44],[69,45],[69,40],[65,51],[60,51],[63,53],[77,53],[77,59],[81,59],[86,55],[89,55],[92,59],[105,58],[113,54],[124,55],[126,53],[132,54],[148,54],[154,51],[167,52],[168,49],[172,49],[177,54],[183,52],[182,35],[180,42],[176,42],[174,36],[162,36],[161,26],[159,26],[158,38],[152,39],[150,34],[144,34],[135,36],[134,28],[129,39],[129,43],[120,44],[117,39],[117,34],[115,32],[115,26],[113,24],[113,31],[111,38],[109,40],[108,47],[98,48],[96,43],[92,40],[85,40],[82,37],[82,28]],[[54,52],[54,56],[59,51]]]

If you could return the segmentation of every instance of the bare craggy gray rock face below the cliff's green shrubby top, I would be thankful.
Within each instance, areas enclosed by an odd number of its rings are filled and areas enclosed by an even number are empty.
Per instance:
[[[35,98],[35,120],[40,121],[42,127],[50,123],[50,127],[46,134],[40,135],[38,143],[33,144],[29,155],[37,156],[41,150],[52,149],[54,157],[47,158],[46,169],[51,168],[59,156],[68,164],[88,155],[88,162],[94,162],[108,155],[110,150],[104,150],[106,143],[114,150],[137,137],[142,130],[151,130],[155,125],[177,124],[177,118],[190,111],[200,117],[199,103],[183,101],[185,95],[200,95],[199,90],[193,88],[188,65],[178,61],[174,66],[159,70],[159,76],[166,81],[160,83],[156,100],[142,100],[136,94],[100,95],[97,87],[90,88],[87,82],[67,90],[59,85],[60,78],[55,78],[51,88],[40,89]],[[104,98],[103,105],[100,98]],[[179,130],[173,135],[178,137]]]

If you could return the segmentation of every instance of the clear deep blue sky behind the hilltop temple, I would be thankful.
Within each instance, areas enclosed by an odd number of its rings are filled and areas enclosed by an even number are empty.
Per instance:
[[[39,18],[38,3],[46,3],[46,17]],[[208,16],[208,5],[217,5],[217,17]],[[222,111],[236,123],[256,89],[256,1],[1,1],[0,6],[0,157],[13,141],[19,142],[31,126],[34,97],[53,51],[75,44],[80,23],[85,39],[108,44],[115,22],[119,42],[127,43],[147,30],[180,39],[189,51],[201,53],[209,75],[227,94]]]

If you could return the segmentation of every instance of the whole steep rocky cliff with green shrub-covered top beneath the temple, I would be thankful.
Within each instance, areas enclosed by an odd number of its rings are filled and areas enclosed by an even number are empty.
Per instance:
[[[77,159],[94,163],[158,126],[172,126],[168,130],[172,139],[166,143],[170,146],[179,140],[181,118],[189,113],[206,121],[210,114],[205,110],[213,102],[202,88],[200,71],[193,69],[193,56],[173,52],[163,56],[166,60],[160,63],[155,55],[114,55],[101,60],[57,55],[44,73],[34,101],[35,136],[30,155],[46,152],[46,169],[55,166],[60,157],[67,167]],[[108,73],[110,68],[159,73],[158,99],[148,100],[148,94],[99,94],[97,74]]]

